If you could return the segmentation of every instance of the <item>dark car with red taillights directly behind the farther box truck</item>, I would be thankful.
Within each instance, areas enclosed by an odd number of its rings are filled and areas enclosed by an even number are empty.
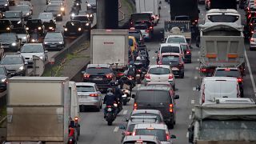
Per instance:
[[[114,70],[109,64],[88,64],[82,71],[83,82],[94,82],[101,91],[108,89],[109,83],[116,80]]]

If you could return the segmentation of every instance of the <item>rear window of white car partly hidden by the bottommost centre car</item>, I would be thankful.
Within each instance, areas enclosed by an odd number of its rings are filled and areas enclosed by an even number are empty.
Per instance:
[[[167,141],[166,140],[166,130],[137,129],[135,134],[136,135],[153,135],[153,136],[157,136],[160,141]]]

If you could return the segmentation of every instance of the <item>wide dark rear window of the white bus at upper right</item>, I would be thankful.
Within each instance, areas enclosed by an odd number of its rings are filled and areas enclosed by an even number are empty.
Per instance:
[[[239,16],[237,15],[209,15],[210,22],[236,22]]]

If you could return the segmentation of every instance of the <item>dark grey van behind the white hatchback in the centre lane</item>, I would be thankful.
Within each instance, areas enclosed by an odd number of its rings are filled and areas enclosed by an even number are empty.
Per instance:
[[[170,129],[176,122],[176,102],[178,95],[172,96],[170,89],[161,86],[144,86],[138,88],[134,98],[134,110],[159,110]]]

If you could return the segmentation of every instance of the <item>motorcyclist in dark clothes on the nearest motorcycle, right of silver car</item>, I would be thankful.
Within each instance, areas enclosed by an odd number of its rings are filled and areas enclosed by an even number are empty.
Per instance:
[[[112,88],[108,88],[106,91],[107,93],[105,95],[103,103],[106,104],[106,106],[112,106],[114,109],[114,113],[117,114],[117,110],[114,107],[114,102],[118,103],[118,98],[116,98],[115,95],[113,94]],[[107,107],[105,107],[104,109],[104,118],[106,118],[106,109]]]

